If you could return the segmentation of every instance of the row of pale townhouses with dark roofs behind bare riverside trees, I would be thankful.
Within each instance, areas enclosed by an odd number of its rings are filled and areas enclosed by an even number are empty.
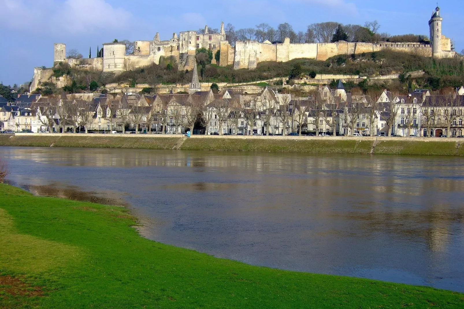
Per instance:
[[[433,96],[429,90],[394,96],[385,90],[378,97],[348,93],[341,81],[336,89],[320,86],[309,97],[271,88],[254,95],[193,90],[190,94],[100,95],[90,101],[22,96],[13,105],[2,106],[0,120],[4,129],[19,132],[457,136],[464,130],[464,87],[448,96]]]

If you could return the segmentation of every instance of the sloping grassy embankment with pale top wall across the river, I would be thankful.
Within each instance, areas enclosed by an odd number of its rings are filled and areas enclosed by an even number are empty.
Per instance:
[[[280,153],[463,156],[463,139],[424,137],[316,137],[16,134],[1,135],[0,146],[139,148]]]

